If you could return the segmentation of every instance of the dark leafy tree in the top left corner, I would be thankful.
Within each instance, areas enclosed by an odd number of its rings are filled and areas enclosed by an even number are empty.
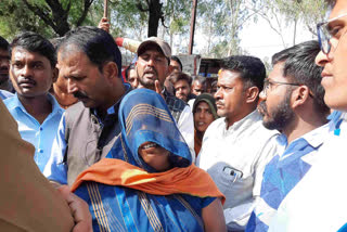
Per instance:
[[[1,0],[1,29],[5,34],[25,29],[44,36],[63,36],[72,26],[82,25],[92,2],[93,0]]]

